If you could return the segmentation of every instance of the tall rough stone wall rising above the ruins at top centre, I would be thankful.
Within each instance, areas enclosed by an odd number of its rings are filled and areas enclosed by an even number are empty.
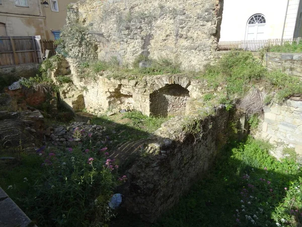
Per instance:
[[[68,39],[66,33],[65,46],[71,58],[88,59],[94,46],[99,60],[114,56],[131,64],[143,54],[200,70],[217,48],[222,5],[222,0],[80,1],[69,10],[65,28],[82,26],[89,35]],[[83,38],[93,43],[91,48]]]

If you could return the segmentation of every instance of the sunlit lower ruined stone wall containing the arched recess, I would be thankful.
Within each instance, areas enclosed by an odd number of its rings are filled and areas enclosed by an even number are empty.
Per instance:
[[[104,72],[103,76],[97,76],[93,81],[81,81],[77,73],[72,71],[72,81],[72,85],[61,89],[62,101],[73,110],[79,109],[81,103],[82,109],[85,107],[94,115],[101,115],[106,111],[118,112],[121,109],[138,110],[147,116],[193,113],[202,95],[210,92],[205,83],[189,79],[185,75],[117,80],[108,79]]]

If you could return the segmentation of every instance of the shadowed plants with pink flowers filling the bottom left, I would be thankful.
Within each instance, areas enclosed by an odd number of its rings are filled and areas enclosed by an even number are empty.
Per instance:
[[[110,150],[98,145],[94,135],[75,128],[73,138],[81,138],[81,146],[75,142],[69,148],[44,146],[36,154],[1,153],[17,155],[18,161],[0,162],[0,186],[38,225],[108,226],[108,201],[123,182],[118,181],[118,165],[107,159]]]

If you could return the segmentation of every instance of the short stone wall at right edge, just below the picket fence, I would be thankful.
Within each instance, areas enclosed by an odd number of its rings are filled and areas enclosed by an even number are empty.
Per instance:
[[[302,53],[266,52],[263,65],[269,70],[281,70],[288,75],[302,77]]]

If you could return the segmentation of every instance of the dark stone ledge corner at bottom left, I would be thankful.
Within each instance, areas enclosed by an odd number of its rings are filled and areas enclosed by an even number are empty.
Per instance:
[[[2,188],[0,188],[0,226],[37,227]]]

